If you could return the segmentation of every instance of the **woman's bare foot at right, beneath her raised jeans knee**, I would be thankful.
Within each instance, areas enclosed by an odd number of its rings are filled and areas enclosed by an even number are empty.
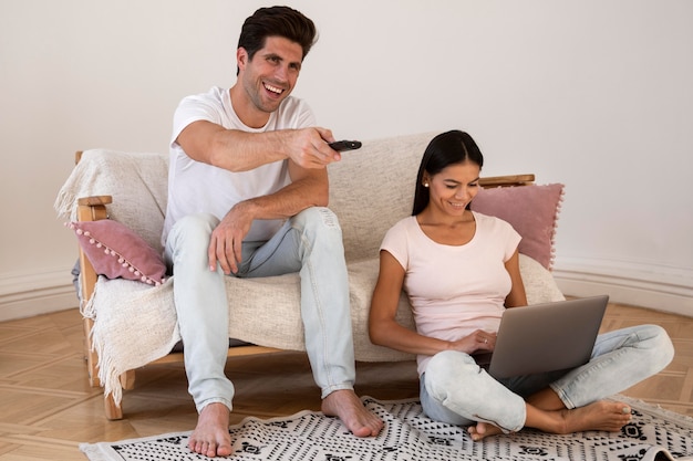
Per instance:
[[[620,431],[631,421],[631,410],[625,404],[599,400],[572,410],[560,410],[563,419],[558,433],[572,433],[586,430]]]

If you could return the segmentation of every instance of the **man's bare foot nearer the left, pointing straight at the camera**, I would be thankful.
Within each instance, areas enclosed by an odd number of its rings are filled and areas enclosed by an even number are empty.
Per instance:
[[[224,404],[209,404],[199,413],[197,427],[190,434],[188,448],[208,458],[231,454],[231,436],[228,432],[230,411]]]

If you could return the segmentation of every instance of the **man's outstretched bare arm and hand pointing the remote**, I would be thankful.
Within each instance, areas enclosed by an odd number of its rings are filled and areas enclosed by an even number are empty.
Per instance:
[[[328,146],[333,140],[331,130],[319,127],[247,133],[207,121],[193,122],[176,139],[192,159],[229,171],[248,171],[285,159],[303,168],[324,168],[341,159]]]

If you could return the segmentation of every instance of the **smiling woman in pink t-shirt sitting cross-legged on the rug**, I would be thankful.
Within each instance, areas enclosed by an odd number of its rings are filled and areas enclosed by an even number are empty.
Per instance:
[[[643,325],[600,335],[573,370],[496,380],[474,355],[494,350],[506,308],[527,304],[507,222],[474,212],[484,157],[463,132],[443,133],[424,153],[411,217],[385,235],[369,332],[374,344],[417,355],[421,402],[432,419],[468,426],[474,440],[524,427],[551,433],[618,431],[630,408],[603,400],[663,369],[666,333]],[[395,314],[404,290],[416,332]]]

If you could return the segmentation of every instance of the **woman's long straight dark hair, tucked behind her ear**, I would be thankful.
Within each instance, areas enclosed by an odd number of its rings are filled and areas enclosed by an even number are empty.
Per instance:
[[[472,161],[482,168],[484,166],[484,156],[478,146],[465,132],[453,129],[452,132],[442,133],[431,139],[428,147],[424,151],[416,176],[416,191],[414,192],[414,209],[412,214],[421,213],[428,205],[431,195],[427,187],[424,187],[424,174],[430,177],[437,175],[445,168],[455,164]],[[468,207],[467,207],[468,208]]]

